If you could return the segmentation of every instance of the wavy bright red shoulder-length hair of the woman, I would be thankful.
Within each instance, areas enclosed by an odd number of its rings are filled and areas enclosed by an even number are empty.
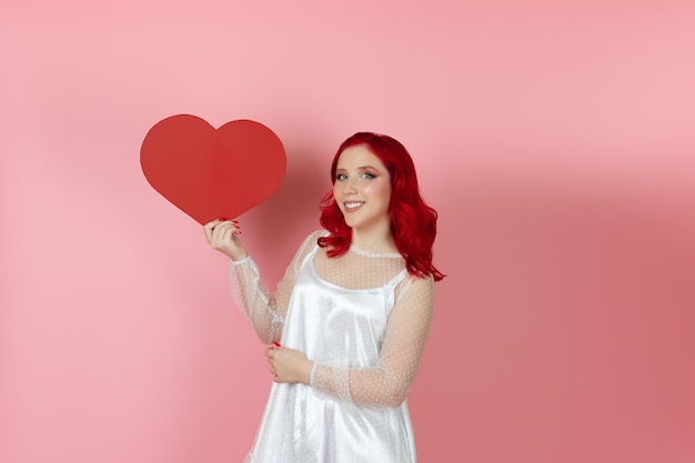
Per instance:
[[[409,273],[415,276],[432,275],[440,281],[444,274],[432,264],[432,245],[436,236],[436,211],[420,195],[413,159],[397,140],[371,132],[357,132],[345,140],[331,164],[331,181],[335,183],[338,159],[343,150],[357,144],[366,145],[386,167],[391,174],[391,232],[399,252],[405,259]],[[329,191],[321,201],[321,227],[331,234],[319,238],[319,245],[328,248],[329,258],[342,255],[350,249],[352,229]]]

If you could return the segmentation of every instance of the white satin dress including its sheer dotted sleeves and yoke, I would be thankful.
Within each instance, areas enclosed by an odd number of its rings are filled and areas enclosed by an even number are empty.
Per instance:
[[[416,286],[411,284],[413,278],[400,254],[351,249],[329,259],[315,244],[316,236],[312,234],[300,249],[275,298],[260,284],[252,261],[232,265],[233,293],[261,338],[304,352],[316,364],[310,385],[273,383],[246,462],[415,462],[405,394],[424,342],[414,351],[391,349],[397,353],[392,366],[389,359],[384,365],[382,352],[387,332],[399,338],[403,331],[390,326],[390,315],[396,300],[400,303]],[[387,281],[375,281],[384,276]],[[286,308],[283,285],[291,286]],[[421,320],[426,339],[432,298],[424,299],[429,310]]]

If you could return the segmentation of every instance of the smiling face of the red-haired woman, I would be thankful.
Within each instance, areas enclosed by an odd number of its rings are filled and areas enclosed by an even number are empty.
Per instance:
[[[391,175],[366,144],[346,148],[340,154],[333,197],[353,230],[391,229]]]

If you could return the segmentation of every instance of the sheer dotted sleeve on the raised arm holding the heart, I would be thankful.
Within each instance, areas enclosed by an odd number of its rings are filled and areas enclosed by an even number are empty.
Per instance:
[[[284,276],[278,283],[274,294],[265,289],[259,268],[251,256],[230,262],[229,280],[232,300],[251,322],[262,342],[270,344],[273,341],[280,341],[300,265],[315,244],[320,233],[320,231],[314,232],[304,240],[286,268]]]

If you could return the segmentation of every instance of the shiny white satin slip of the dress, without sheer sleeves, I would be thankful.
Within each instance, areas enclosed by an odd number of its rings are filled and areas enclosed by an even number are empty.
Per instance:
[[[340,368],[374,368],[394,306],[400,272],[386,285],[350,290],[323,280],[303,260],[290,299],[282,344],[312,361]],[[406,402],[396,407],[357,406],[305,384],[273,383],[248,463],[413,463],[413,429]]]

